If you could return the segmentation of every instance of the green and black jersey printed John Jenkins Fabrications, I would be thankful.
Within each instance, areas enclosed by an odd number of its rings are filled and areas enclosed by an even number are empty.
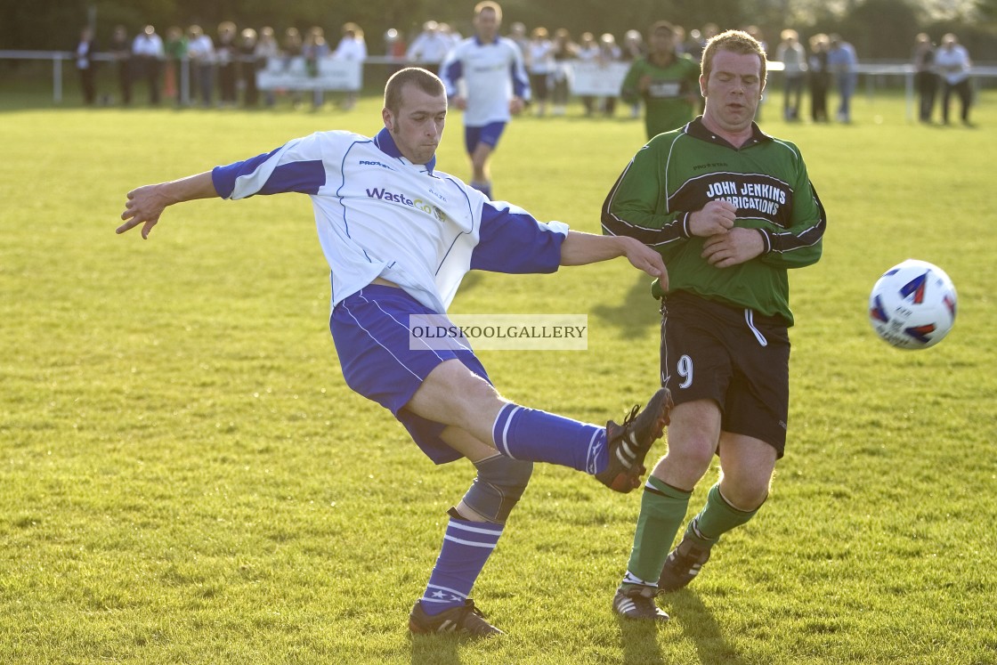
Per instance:
[[[737,206],[736,226],[759,229],[765,242],[760,256],[726,268],[701,256],[706,238],[690,234],[689,214],[717,199]],[[754,126],[752,138],[736,149],[702,119],[649,141],[602,205],[603,232],[635,237],[661,252],[670,290],[780,315],[788,325],[787,269],[821,258],[826,225],[796,146]]]

